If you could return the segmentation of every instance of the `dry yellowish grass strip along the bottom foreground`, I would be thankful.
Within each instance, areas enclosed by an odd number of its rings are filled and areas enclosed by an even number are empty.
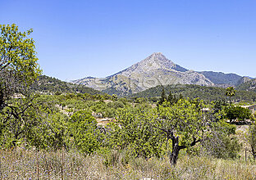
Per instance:
[[[167,158],[80,155],[66,151],[0,151],[0,179],[256,179],[253,161],[182,156],[175,168]]]

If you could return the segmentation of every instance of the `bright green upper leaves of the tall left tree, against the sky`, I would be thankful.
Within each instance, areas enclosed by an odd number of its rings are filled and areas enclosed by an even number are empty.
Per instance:
[[[10,70],[16,79],[28,85],[41,73],[34,51],[34,40],[28,38],[33,29],[20,32],[18,26],[0,25],[0,70]]]

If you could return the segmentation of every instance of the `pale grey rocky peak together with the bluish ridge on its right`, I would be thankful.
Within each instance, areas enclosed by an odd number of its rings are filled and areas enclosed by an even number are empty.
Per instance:
[[[200,86],[237,86],[242,77],[237,74],[224,74],[222,72],[187,70],[181,65],[155,52],[143,61],[131,65],[126,70],[112,74],[106,78],[98,79],[87,77],[77,79],[71,83],[84,84],[89,88],[107,92],[109,94],[128,95],[141,92],[158,85],[182,86],[182,84],[195,84]]]

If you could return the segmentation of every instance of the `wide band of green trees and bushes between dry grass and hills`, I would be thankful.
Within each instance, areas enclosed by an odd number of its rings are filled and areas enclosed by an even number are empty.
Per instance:
[[[234,158],[239,151],[240,144],[232,137],[234,125],[220,120],[225,110],[222,102],[207,105],[199,99],[181,96],[173,101],[172,96],[171,102],[163,101],[155,107],[145,98],[139,98],[136,104],[126,98],[106,101],[105,98],[112,98],[106,94],[67,93],[26,98],[13,99],[9,104],[16,111],[6,107],[0,114],[3,148],[21,143],[55,151],[65,147],[67,151],[75,149],[85,154],[101,151],[107,167],[120,162],[115,159],[116,152],[126,151],[121,160],[126,164],[129,158],[161,157],[170,150],[173,154],[176,143],[177,155],[182,149],[191,151],[195,144],[211,144],[211,141],[220,142],[212,148],[216,157]],[[8,110],[22,113],[15,117]],[[112,123],[101,128],[92,115],[112,118]],[[205,138],[209,141],[203,142]],[[199,146],[196,148],[200,152]]]

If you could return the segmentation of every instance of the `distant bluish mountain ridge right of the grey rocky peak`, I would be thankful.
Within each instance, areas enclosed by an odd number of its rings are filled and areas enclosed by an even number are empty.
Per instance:
[[[213,71],[201,71],[199,72],[203,74],[207,79],[210,79],[215,85],[222,86],[226,88],[226,86],[235,86],[239,80],[242,78],[237,74],[224,74],[222,72],[213,72]]]

